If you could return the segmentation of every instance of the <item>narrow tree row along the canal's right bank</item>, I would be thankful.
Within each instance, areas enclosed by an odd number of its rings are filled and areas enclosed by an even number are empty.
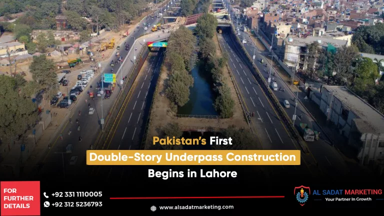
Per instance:
[[[212,40],[215,36],[216,26],[217,19],[212,14],[205,13],[197,19],[194,31],[199,40],[200,59],[204,61],[206,71],[209,71],[212,76],[214,91],[216,92],[214,107],[220,115],[232,116],[234,101],[222,71],[227,57],[216,56],[216,45]]]

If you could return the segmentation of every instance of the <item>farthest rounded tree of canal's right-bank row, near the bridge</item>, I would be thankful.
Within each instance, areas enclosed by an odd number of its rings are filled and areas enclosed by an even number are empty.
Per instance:
[[[196,35],[203,39],[204,37],[212,38],[215,34],[217,27],[217,18],[209,13],[204,13],[197,19],[196,28],[194,32]]]

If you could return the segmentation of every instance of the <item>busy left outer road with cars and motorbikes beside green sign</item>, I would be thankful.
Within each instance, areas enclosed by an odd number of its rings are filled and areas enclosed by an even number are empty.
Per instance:
[[[141,20],[140,23],[145,22],[145,18]],[[152,20],[156,21],[155,19]],[[150,30],[149,30],[150,31]],[[155,32],[153,34],[145,35],[139,39],[136,38],[134,40],[134,37],[138,37],[142,35],[143,28],[141,27],[140,30],[137,31],[137,29],[134,32],[131,32],[130,35],[126,38],[126,43],[130,44],[130,50],[126,51],[123,47],[123,42],[121,42],[121,48],[120,48],[120,56],[125,58],[123,64],[117,64],[113,67],[113,72],[116,72],[116,79],[117,83],[120,80],[121,75],[128,75],[128,72],[130,71],[133,63],[134,63],[134,56],[137,55],[141,48],[147,48],[146,42],[147,41],[156,41],[156,40],[163,40],[164,38],[167,38],[169,34],[162,33],[160,31]],[[145,42],[144,42],[145,39]],[[134,42],[135,41],[135,42]],[[117,45],[117,44],[116,44]],[[115,45],[115,46],[116,46]],[[137,47],[137,50],[134,51],[134,47]],[[109,66],[109,62],[113,59],[116,59],[114,51],[111,55],[111,57],[106,60],[107,66],[105,68],[102,68],[103,72],[110,72],[110,69],[112,67]],[[79,95],[78,101],[76,104],[74,104],[74,107],[70,107],[68,111],[70,111],[70,119],[72,123],[69,123],[69,120],[66,119],[66,122],[63,124],[62,128],[60,129],[60,132],[62,134],[62,139],[57,136],[57,138],[54,140],[53,143],[51,143],[51,148],[47,149],[46,156],[43,157],[42,161],[40,162],[40,166],[42,166],[40,169],[38,169],[38,173],[41,176],[46,177],[55,177],[55,176],[63,176],[65,170],[65,175],[69,174],[76,174],[78,172],[82,172],[84,169],[84,165],[86,164],[86,155],[85,151],[89,149],[90,145],[95,142],[95,139],[97,137],[98,132],[101,129],[100,125],[100,119],[103,117],[105,121],[108,120],[107,114],[109,112],[109,109],[112,107],[117,94],[119,93],[120,89],[119,87],[115,87],[115,90],[113,91],[111,97],[109,99],[102,99],[101,97],[95,97],[94,100],[89,100],[88,96],[86,95],[86,91],[97,91],[95,87],[97,86],[97,82],[100,80],[100,73],[95,74],[95,76],[92,78],[91,82],[88,84],[87,88],[84,89],[84,91]],[[128,80],[129,83],[127,83],[126,87],[131,87],[133,83],[133,79]],[[91,90],[89,89],[89,86],[94,86]],[[87,103],[85,103],[85,99],[88,99],[88,102],[91,103],[91,107],[95,108],[95,112],[93,115],[88,115],[88,106]],[[101,102],[102,101],[102,102]],[[101,113],[101,107],[102,107],[102,113]],[[115,107],[119,108],[119,107]],[[81,111],[81,115],[78,115],[78,111]],[[79,119],[79,125],[80,125],[80,131],[77,131],[77,124],[75,122],[75,119]],[[68,130],[71,130],[70,135],[68,135]],[[82,137],[82,141],[78,141],[78,137]],[[71,153],[63,153],[65,151],[65,147],[68,144],[72,144],[72,152]],[[62,154],[63,153],[63,154]],[[69,160],[72,156],[77,156],[76,164],[69,165]],[[64,167],[64,168],[63,168]]]

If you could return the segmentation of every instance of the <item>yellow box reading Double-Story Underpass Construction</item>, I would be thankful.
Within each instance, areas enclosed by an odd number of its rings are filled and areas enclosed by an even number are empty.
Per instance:
[[[300,165],[300,150],[87,150],[87,165]]]

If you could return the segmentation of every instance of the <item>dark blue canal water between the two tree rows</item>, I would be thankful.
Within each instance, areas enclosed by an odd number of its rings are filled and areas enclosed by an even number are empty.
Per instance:
[[[210,72],[205,71],[202,61],[196,62],[191,70],[193,86],[189,88],[189,101],[178,107],[177,114],[218,115],[213,107],[215,99]]]

